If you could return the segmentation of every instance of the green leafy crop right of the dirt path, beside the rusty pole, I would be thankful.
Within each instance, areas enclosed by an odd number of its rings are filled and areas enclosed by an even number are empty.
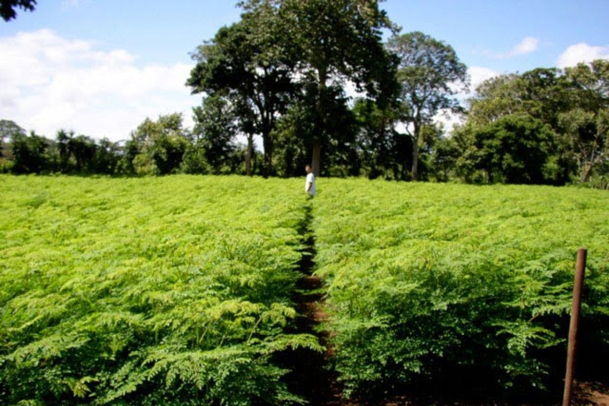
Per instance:
[[[576,251],[582,348],[609,349],[609,197],[584,189],[323,180],[326,328],[353,391],[475,376],[543,386],[564,368]]]

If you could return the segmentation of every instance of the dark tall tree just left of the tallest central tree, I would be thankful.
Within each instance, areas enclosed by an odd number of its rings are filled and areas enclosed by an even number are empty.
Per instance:
[[[244,13],[239,23],[222,27],[192,55],[197,65],[187,82],[193,93],[225,97],[233,105],[248,140],[248,174],[253,135],[262,136],[266,176],[273,172],[271,131],[294,93],[292,67],[286,52],[278,48],[273,15],[268,5]]]

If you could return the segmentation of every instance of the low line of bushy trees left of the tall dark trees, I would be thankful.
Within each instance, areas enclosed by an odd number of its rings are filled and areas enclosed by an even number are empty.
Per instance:
[[[196,110],[196,108],[195,108]],[[195,130],[200,124],[195,126]],[[100,140],[59,130],[54,139],[0,120],[0,172],[102,175],[169,175],[172,173],[245,174],[245,149],[219,144],[183,126],[179,113],[146,119],[127,141]],[[258,173],[261,156],[255,152]]]

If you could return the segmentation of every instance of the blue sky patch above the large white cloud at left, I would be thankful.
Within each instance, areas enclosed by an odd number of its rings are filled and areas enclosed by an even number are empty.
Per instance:
[[[142,65],[167,64],[189,62],[189,52],[239,15],[233,1],[38,0],[33,13],[0,24],[0,36],[50,28],[102,50],[125,49]]]

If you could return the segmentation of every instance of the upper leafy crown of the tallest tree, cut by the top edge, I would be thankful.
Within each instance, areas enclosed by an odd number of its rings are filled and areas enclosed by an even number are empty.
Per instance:
[[[345,75],[368,94],[377,94],[387,75],[389,55],[381,42],[382,30],[395,32],[378,1],[360,0],[246,0],[248,14],[273,10],[273,23],[283,50],[298,63],[305,81],[315,84],[317,98],[332,75]],[[327,22],[331,21],[331,24]],[[312,89],[312,88],[311,88]],[[320,112],[323,113],[323,112]]]

